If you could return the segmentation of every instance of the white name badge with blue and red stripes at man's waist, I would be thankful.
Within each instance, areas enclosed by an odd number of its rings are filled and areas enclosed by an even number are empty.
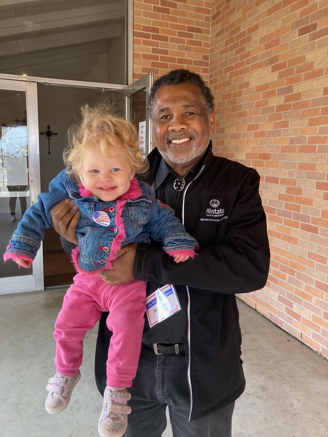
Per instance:
[[[174,285],[163,285],[146,299],[146,314],[150,327],[168,319],[181,310]]]

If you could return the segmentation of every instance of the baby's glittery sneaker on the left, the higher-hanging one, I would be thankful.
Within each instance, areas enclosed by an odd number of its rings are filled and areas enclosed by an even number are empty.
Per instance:
[[[59,372],[53,378],[50,378],[46,389],[49,394],[46,399],[46,410],[49,414],[57,414],[65,410],[71,400],[73,388],[81,378],[78,370],[73,376],[63,375]]]

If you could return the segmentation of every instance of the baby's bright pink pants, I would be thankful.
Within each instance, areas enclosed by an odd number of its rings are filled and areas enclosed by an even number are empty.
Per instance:
[[[74,375],[82,363],[83,339],[109,311],[113,332],[107,359],[107,385],[131,387],[135,377],[145,324],[146,282],[108,285],[95,276],[78,273],[64,297],[56,323],[57,372]]]

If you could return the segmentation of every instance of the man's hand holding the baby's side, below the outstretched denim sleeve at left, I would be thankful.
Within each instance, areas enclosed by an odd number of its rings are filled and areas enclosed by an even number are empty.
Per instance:
[[[64,199],[51,210],[51,222],[54,230],[71,243],[77,244],[76,226],[80,219],[78,207],[71,199]]]

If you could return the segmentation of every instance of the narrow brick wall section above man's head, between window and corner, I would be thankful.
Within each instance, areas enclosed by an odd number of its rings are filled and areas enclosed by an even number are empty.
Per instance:
[[[212,1],[135,0],[133,75],[193,69],[208,81]]]

